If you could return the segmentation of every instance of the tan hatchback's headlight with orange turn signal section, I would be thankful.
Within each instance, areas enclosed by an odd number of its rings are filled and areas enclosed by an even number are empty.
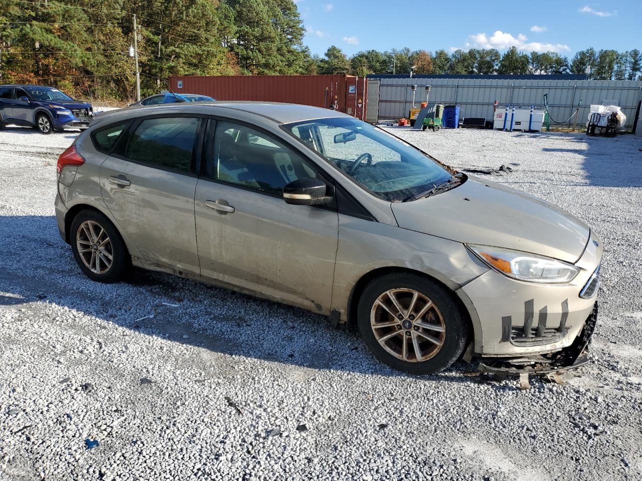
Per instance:
[[[573,264],[528,252],[490,246],[467,245],[467,248],[496,271],[526,282],[571,282],[580,272]]]

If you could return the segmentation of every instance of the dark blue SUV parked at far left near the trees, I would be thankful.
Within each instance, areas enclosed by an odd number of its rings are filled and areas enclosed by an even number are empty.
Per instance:
[[[85,129],[94,116],[92,106],[40,85],[0,85],[0,128],[4,124],[33,127],[42,133]]]

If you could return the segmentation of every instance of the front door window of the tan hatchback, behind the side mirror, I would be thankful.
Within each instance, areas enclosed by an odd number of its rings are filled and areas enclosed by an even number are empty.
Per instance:
[[[300,178],[316,178],[317,171],[303,156],[281,141],[252,128],[218,122],[214,138],[215,180],[243,185],[270,194]]]

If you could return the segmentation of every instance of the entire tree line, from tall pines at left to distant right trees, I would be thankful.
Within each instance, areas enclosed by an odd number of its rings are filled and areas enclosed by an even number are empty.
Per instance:
[[[348,57],[311,55],[293,0],[0,0],[0,83],[56,85],[78,96],[132,99],[136,14],[143,95],[176,75],[553,74],[640,77],[637,49],[522,53],[516,47],[429,52],[408,48]],[[414,67],[414,68],[413,68]]]

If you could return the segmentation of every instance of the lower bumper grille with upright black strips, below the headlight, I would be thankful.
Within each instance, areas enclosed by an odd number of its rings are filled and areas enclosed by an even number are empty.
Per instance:
[[[559,326],[556,328],[546,327],[548,321],[548,307],[542,307],[537,316],[537,326],[533,325],[535,312],[535,301],[533,299],[524,303],[524,325],[513,326],[512,316],[501,318],[501,341],[510,342],[516,346],[539,346],[559,341],[569,330],[566,326],[568,319],[568,299],[562,302],[562,316]]]

